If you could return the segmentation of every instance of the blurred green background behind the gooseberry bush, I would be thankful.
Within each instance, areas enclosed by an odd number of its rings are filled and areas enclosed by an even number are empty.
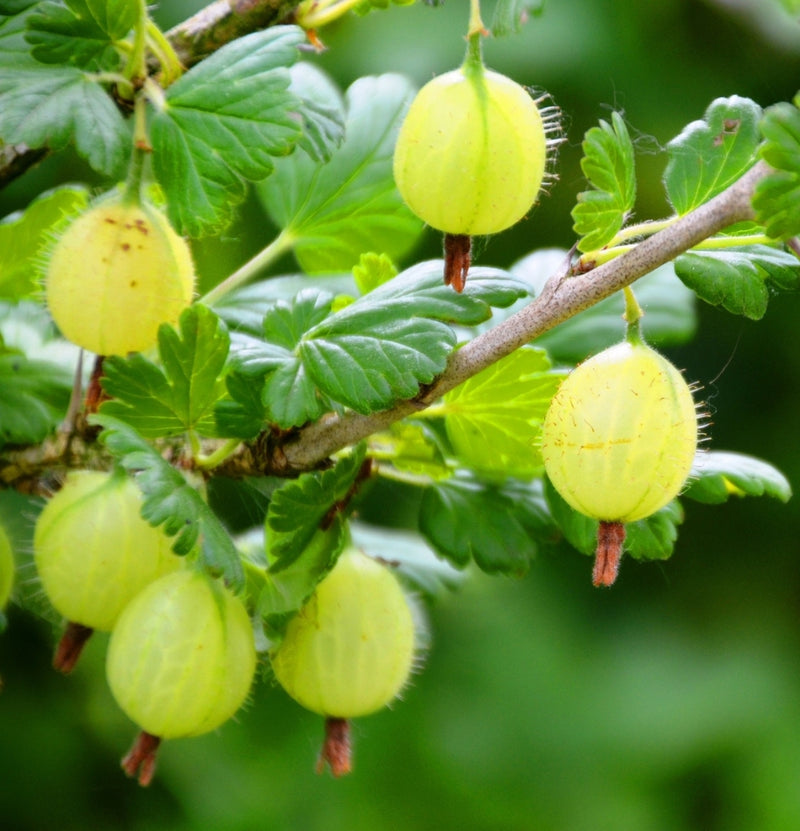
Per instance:
[[[200,5],[172,0],[157,16],[172,25]],[[348,18],[322,32],[330,49],[313,60],[343,88],[389,71],[421,84],[460,61],[467,5]],[[667,210],[659,147],[716,97],[766,106],[800,88],[800,23],[777,0],[549,0],[485,54],[551,93],[567,136],[552,194],[481,254],[499,266],[571,245],[580,140],[611,108],[638,135],[637,215],[657,217]],[[92,181],[74,157],[53,157],[0,194],[0,214],[76,179]],[[247,207],[245,222],[197,247],[206,281],[270,240],[256,203]],[[430,234],[417,254],[438,246]],[[791,295],[760,324],[702,307],[697,338],[669,353],[703,387],[711,446],[768,459],[795,485],[799,313]],[[690,503],[672,560],[624,562],[609,591],[592,589],[589,572],[578,554],[545,554],[523,580],[475,575],[436,604],[425,671],[392,711],[355,725],[355,771],[340,781],[313,773],[320,720],[262,684],[218,734],[167,744],[140,789],[118,767],[134,728],[105,687],[104,637],[61,678],[49,668],[50,628],[11,609],[0,637],[0,827],[800,828],[796,505]]]

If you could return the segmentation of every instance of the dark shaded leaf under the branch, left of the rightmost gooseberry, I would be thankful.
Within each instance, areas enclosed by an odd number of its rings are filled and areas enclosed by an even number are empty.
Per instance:
[[[525,504],[533,492],[505,492],[470,480],[450,479],[426,489],[419,528],[433,548],[458,568],[470,560],[490,574],[524,574],[536,554]]]

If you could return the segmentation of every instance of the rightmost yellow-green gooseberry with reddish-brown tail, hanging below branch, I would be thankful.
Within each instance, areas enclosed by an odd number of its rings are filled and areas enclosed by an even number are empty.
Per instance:
[[[616,564],[603,561],[606,549],[613,557],[624,540],[619,526],[650,516],[680,493],[697,433],[683,375],[641,340],[589,358],[559,387],[542,425],[542,456],[564,500],[601,521],[597,584],[613,582]]]

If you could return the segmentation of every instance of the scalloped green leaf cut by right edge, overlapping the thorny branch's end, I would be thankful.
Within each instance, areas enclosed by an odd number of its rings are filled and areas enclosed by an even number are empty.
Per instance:
[[[785,239],[800,234],[800,110],[787,103],[770,107],[761,132],[761,155],[775,171],[756,185],[753,208],[771,237]]]

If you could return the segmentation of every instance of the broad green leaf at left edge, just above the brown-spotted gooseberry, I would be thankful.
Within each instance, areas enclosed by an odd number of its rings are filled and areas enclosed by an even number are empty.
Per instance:
[[[72,67],[0,65],[0,135],[7,144],[60,150],[71,141],[98,172],[122,175],[128,124],[106,91]]]

